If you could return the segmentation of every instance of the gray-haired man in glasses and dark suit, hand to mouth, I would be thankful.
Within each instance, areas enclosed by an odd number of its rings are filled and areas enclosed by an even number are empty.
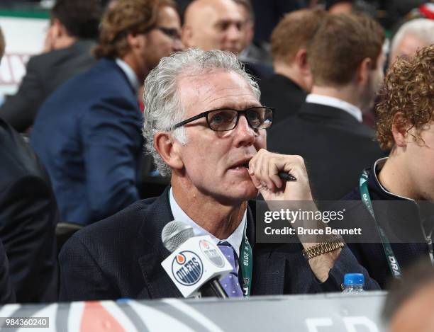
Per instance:
[[[266,202],[313,202],[301,159],[265,150],[272,111],[260,105],[257,84],[233,54],[187,50],[165,57],[145,79],[145,91],[146,147],[158,171],[171,177],[170,188],[67,241],[60,253],[62,301],[179,297],[160,265],[169,255],[161,231],[172,219],[224,246],[233,259],[223,282],[230,297],[243,296],[241,285],[244,294],[338,291],[345,271],[365,272],[334,236],[311,244],[256,243],[247,200],[258,192]],[[284,185],[279,170],[297,181]],[[250,247],[252,275],[237,270]],[[376,287],[366,278],[368,289]]]

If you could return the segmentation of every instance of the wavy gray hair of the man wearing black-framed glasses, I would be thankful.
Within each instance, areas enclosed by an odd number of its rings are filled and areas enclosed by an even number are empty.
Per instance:
[[[245,79],[253,93],[260,100],[260,90],[250,74],[244,70],[235,55],[221,50],[203,51],[190,49],[164,57],[150,71],[145,79],[143,105],[145,105],[143,137],[145,148],[154,159],[162,176],[170,176],[170,167],[163,161],[154,147],[154,135],[157,132],[170,132],[181,144],[187,144],[184,127],[174,130],[177,122],[184,120],[185,110],[179,101],[178,81],[182,74],[199,76],[211,71],[233,71]]]

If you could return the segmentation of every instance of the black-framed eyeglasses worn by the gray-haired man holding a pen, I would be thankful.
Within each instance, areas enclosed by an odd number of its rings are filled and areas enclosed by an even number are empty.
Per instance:
[[[231,108],[219,108],[218,110],[208,110],[204,113],[195,115],[174,125],[174,129],[187,125],[187,123],[200,118],[206,118],[209,129],[215,132],[226,132],[233,130],[238,125],[240,115],[245,115],[247,123],[255,129],[267,129],[273,122],[274,108],[266,106],[255,106],[246,110],[233,110]]]

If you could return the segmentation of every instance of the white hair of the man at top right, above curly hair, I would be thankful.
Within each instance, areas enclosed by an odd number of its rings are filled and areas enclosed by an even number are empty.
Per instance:
[[[434,43],[434,21],[428,18],[416,18],[401,25],[391,42],[391,54],[396,52],[396,47],[406,35],[413,35],[425,45],[431,45]]]

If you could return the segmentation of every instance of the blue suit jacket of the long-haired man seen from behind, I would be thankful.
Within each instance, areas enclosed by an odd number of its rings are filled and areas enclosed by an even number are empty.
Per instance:
[[[135,91],[109,59],[45,101],[30,143],[48,169],[63,221],[89,224],[138,200],[141,122]]]

